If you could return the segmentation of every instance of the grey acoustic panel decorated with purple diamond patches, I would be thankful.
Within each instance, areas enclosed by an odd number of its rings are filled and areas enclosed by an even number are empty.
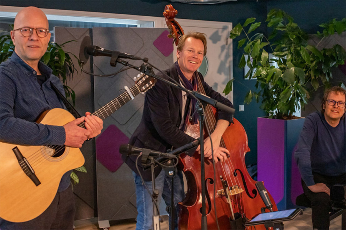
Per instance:
[[[130,53],[141,58],[146,57],[149,63],[165,70],[173,64],[173,41],[162,34],[167,34],[166,29],[93,28],[92,40],[94,46]],[[170,52],[168,56],[167,52]],[[110,74],[120,70],[125,71],[111,77],[94,78],[95,110],[124,92],[124,86],[128,88],[134,86],[133,78],[139,73],[135,69],[126,70],[126,67],[120,63],[112,67],[110,60],[110,57],[93,57],[94,72]],[[126,61],[137,67],[143,64],[140,60]],[[112,113],[104,120],[103,132],[96,140],[99,223],[135,218],[137,215],[132,172],[121,161],[118,147],[120,144],[127,144],[128,138],[137,128],[142,117],[143,103],[144,95],[138,94]],[[101,147],[99,146],[101,144],[107,146]],[[110,159],[112,163],[105,159]]]

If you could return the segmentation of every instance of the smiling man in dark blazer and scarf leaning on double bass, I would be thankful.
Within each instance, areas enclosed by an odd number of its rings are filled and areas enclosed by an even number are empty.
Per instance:
[[[227,106],[233,107],[228,99],[222,97],[218,92],[208,86],[208,84],[204,82],[202,74],[197,72],[206,53],[207,39],[205,35],[198,32],[187,33],[182,36],[177,46],[177,62],[175,62],[170,69],[165,70],[164,73],[189,90],[197,90],[197,78],[200,78],[200,82],[202,82],[207,96]],[[158,75],[167,79],[163,74]],[[184,131],[188,123],[198,122],[198,113],[195,111],[195,104],[195,99],[190,99],[190,96],[187,96],[185,92],[158,80],[155,86],[146,92],[142,120],[130,138],[129,144],[139,148],[166,152],[172,147],[179,148],[184,144],[194,141],[195,139],[185,134]],[[219,147],[219,144],[222,134],[232,120],[232,114],[228,112],[218,110],[217,114],[217,125],[210,136],[213,144],[213,156],[216,163],[226,160],[227,154],[229,154],[229,151]],[[199,150],[200,146],[190,151],[189,155],[192,156],[194,151]],[[212,160],[209,137],[204,140],[204,157],[206,161]],[[138,211],[136,230],[152,229],[153,203],[151,196],[138,175],[136,169],[136,156],[124,156],[123,159],[134,171]],[[139,169],[142,168],[140,158],[138,160],[138,166]],[[152,193],[151,171],[140,170],[146,186]],[[155,178],[155,189],[160,192],[158,195],[158,203],[160,203],[161,197],[163,197],[166,205],[170,206],[170,178],[166,177],[165,171],[162,170],[161,167],[155,168],[155,175],[157,175]],[[179,171],[177,177],[174,179],[174,206],[176,207],[178,202],[183,201],[184,197],[182,172]],[[177,208],[175,210],[176,226],[179,210]]]

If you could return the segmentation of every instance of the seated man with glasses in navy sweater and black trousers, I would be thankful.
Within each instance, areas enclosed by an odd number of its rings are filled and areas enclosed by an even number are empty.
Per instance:
[[[313,229],[329,229],[330,188],[346,183],[346,91],[325,91],[321,112],[309,114],[294,158],[305,195],[311,201]]]

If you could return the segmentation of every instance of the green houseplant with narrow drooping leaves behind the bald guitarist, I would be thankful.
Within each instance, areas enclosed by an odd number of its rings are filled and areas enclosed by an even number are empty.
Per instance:
[[[10,27],[13,29],[13,24],[10,25]],[[69,86],[67,86],[67,80],[71,79],[71,77],[73,78],[74,71],[78,72],[78,70],[75,68],[70,55],[74,56],[78,62],[79,59],[73,53],[65,52],[63,50],[64,44],[69,42],[73,41],[67,41],[61,45],[49,41],[47,51],[41,58],[41,61],[53,70],[53,74],[55,76],[62,80],[66,98],[70,99],[74,106],[75,92]],[[15,46],[13,45],[10,34],[0,36],[0,63],[11,57],[14,49]],[[75,170],[86,172],[86,168],[84,166]],[[71,173],[71,179],[74,184],[79,183],[79,178],[74,171]]]

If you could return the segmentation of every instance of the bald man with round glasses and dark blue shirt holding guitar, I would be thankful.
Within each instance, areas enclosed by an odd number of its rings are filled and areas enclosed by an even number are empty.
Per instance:
[[[64,126],[35,122],[46,110],[65,108],[50,84],[53,83],[64,95],[62,82],[40,61],[50,38],[48,20],[42,10],[27,7],[18,12],[14,30],[11,31],[15,50],[11,58],[0,65],[2,142],[80,148],[85,140],[101,133],[103,121],[97,116],[90,116],[89,112],[85,113],[85,117]],[[85,129],[79,126],[83,121]],[[6,162],[0,164],[3,166]],[[53,191],[56,193],[54,200],[42,214],[26,222],[10,222],[0,218],[0,229],[73,229],[75,205],[71,172],[62,176],[57,191]]]

